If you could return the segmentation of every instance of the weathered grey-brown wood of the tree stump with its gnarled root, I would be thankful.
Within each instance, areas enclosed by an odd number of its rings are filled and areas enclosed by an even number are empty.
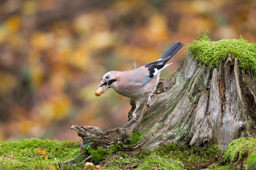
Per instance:
[[[131,120],[131,101],[129,121],[122,127],[105,133],[94,126],[71,129],[82,137],[84,150],[122,143],[119,151],[136,155],[167,142],[226,149],[234,139],[256,136],[256,79],[252,71],[239,70],[238,62],[227,57],[210,69],[188,53],[174,75],[160,79],[151,108],[145,102],[138,109],[138,122]],[[140,140],[127,144],[136,131],[142,134]]]

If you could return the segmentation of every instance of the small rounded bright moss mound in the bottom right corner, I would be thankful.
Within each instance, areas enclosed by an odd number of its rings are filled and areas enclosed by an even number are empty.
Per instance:
[[[256,150],[256,139],[239,138],[233,140],[228,146],[225,153],[225,160],[230,162],[241,162],[242,159]]]

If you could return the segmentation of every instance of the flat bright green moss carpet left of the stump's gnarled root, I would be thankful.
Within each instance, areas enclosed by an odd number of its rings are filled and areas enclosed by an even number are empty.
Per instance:
[[[70,155],[79,150],[79,142],[57,141],[49,139],[23,139],[18,141],[0,142],[0,156],[14,155],[15,158],[0,158],[0,169],[6,170],[48,170],[57,167],[59,162],[70,159]],[[48,152],[48,159],[35,148]],[[79,151],[78,151],[79,153]],[[78,155],[77,152],[73,155]]]

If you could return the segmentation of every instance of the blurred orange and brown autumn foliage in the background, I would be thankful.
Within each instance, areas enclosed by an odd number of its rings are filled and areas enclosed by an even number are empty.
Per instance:
[[[0,1],[0,141],[77,141],[71,125],[103,130],[128,120],[129,99],[94,96],[103,74],[153,62],[174,42],[256,40],[253,0]],[[184,59],[180,50],[163,71]]]

